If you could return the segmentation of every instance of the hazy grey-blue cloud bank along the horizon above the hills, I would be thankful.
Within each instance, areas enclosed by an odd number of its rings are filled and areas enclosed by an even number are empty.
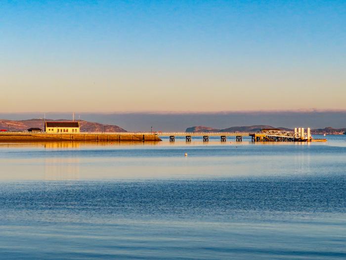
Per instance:
[[[43,118],[44,113],[0,113],[1,119]],[[72,113],[45,113],[49,119],[72,119]],[[227,128],[231,126],[272,125],[275,127],[344,128],[343,111],[252,111],[252,112],[117,112],[75,113],[75,119],[118,125],[128,131],[184,131],[191,126]]]

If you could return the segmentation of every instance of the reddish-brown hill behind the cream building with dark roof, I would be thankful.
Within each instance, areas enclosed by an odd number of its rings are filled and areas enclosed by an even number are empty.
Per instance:
[[[71,120],[66,119],[46,119],[46,121],[59,121],[66,122]],[[85,120],[78,120],[80,123],[81,131],[83,132],[127,132],[125,129],[117,125],[105,125],[95,122],[89,122]],[[28,119],[28,120],[5,120],[0,119],[0,129],[5,130],[27,130],[32,127],[38,127],[44,129],[44,120],[39,119]]]

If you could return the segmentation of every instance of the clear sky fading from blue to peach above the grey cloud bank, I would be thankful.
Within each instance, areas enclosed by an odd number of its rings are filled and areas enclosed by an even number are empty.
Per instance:
[[[0,1],[0,112],[346,109],[346,1]]]

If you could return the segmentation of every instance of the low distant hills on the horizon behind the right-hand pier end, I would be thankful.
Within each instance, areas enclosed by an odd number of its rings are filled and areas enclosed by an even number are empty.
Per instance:
[[[260,132],[262,129],[281,129],[292,131],[293,129],[285,127],[274,127],[271,125],[251,125],[251,126],[233,126],[225,129],[217,129],[207,126],[192,126],[186,128],[186,132],[197,133],[197,132]],[[311,134],[329,134],[329,135],[342,135],[346,133],[346,128],[333,128],[326,127],[320,129],[311,129]]]

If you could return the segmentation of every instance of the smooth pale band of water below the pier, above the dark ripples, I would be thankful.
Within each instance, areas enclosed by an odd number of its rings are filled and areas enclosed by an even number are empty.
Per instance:
[[[199,178],[322,174],[345,160],[329,143],[49,142],[0,144],[0,180]],[[336,147],[342,143],[341,147]],[[187,153],[188,156],[184,156]],[[336,168],[335,171],[339,171]]]

